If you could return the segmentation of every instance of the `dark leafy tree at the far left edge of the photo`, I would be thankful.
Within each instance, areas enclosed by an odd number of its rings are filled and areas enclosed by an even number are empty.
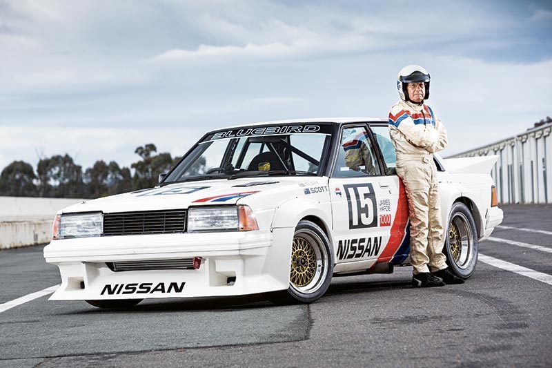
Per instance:
[[[36,197],[37,186],[32,166],[27,162],[14,161],[6,166],[0,175],[0,195],[14,197]]]

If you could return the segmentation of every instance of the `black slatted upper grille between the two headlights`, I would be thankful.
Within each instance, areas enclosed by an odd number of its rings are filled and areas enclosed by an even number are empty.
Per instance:
[[[186,210],[103,214],[103,236],[184,233]]]

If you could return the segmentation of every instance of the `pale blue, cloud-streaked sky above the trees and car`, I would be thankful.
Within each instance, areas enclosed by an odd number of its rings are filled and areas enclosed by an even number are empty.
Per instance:
[[[388,117],[431,74],[453,155],[552,116],[552,1],[0,0],[0,170],[181,156],[207,130]]]

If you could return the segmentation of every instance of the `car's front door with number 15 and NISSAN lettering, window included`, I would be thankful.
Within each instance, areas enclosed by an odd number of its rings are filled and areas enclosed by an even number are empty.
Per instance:
[[[393,240],[399,183],[396,175],[386,175],[366,124],[344,126],[340,138],[329,181],[335,271],[358,271],[389,262],[397,250],[387,246]]]

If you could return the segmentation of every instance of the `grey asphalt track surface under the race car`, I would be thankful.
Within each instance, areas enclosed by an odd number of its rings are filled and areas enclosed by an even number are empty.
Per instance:
[[[248,296],[106,311],[42,296],[1,311],[60,282],[42,246],[1,251],[0,368],[551,367],[552,206],[501,207],[504,227],[465,284],[413,289],[404,267],[335,278],[310,305]]]

